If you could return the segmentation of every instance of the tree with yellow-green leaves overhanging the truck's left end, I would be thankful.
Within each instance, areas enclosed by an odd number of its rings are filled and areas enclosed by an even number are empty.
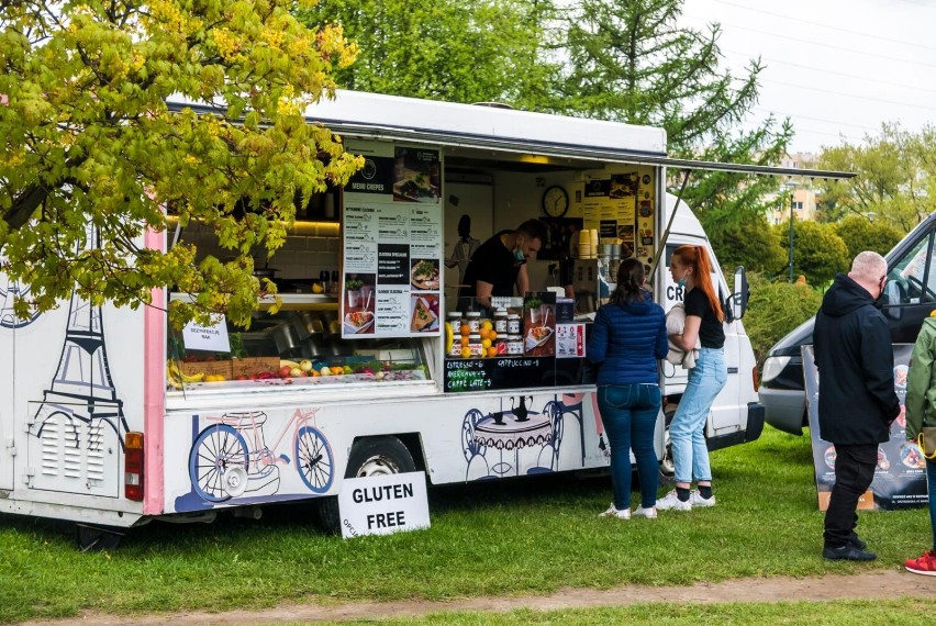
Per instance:
[[[361,165],[303,116],[356,55],[338,26],[292,16],[313,3],[0,0],[0,270],[30,286],[19,315],[73,290],[135,308],[177,286],[193,294],[172,303],[177,325],[249,320],[275,291],[253,255],[283,244],[294,198]],[[204,107],[170,111],[174,94]],[[213,228],[230,258],[144,247],[167,206]]]

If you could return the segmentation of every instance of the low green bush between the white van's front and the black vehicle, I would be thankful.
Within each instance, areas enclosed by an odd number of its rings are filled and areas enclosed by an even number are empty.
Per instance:
[[[807,284],[770,282],[750,275],[750,299],[744,326],[757,361],[761,362],[773,344],[812,317],[822,303],[822,293]]]

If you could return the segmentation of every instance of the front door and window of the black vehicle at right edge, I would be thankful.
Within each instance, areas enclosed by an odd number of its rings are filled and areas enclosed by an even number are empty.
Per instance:
[[[895,344],[914,343],[923,320],[936,310],[934,255],[932,228],[902,242],[888,255],[888,282],[881,311]]]

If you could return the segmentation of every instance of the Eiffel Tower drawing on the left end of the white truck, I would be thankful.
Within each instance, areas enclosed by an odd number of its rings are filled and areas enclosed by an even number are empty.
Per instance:
[[[89,249],[97,246],[97,233],[89,231]],[[42,431],[49,418],[64,416],[73,427],[74,445],[78,447],[78,425],[89,427],[89,449],[101,445],[100,427],[110,426],[123,449],[123,433],[130,428],[123,413],[123,401],[118,398],[104,345],[101,308],[92,305],[76,291],[71,292],[68,327],[58,368],[52,385],[43,391],[43,400],[34,423]],[[97,435],[94,435],[97,433]]]

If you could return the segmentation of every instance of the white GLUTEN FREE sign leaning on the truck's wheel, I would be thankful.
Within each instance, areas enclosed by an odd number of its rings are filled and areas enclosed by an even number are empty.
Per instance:
[[[428,528],[425,472],[346,478],[338,493],[342,536]]]

